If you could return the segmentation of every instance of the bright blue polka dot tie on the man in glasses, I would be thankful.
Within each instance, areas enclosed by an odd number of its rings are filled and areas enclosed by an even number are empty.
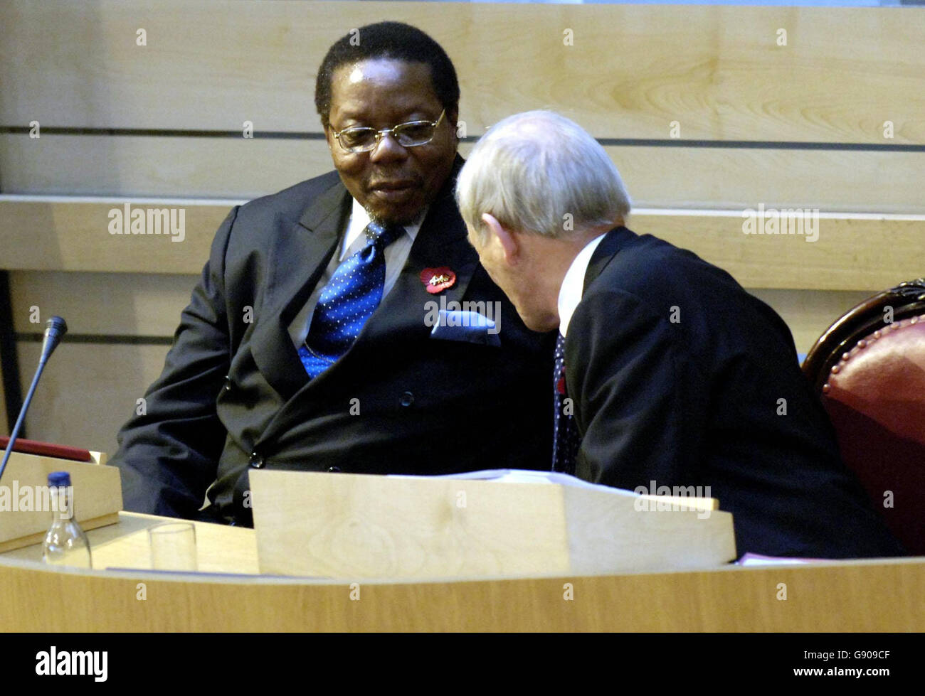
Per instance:
[[[321,291],[299,358],[310,377],[317,377],[353,345],[366,320],[382,300],[386,283],[385,249],[404,234],[404,227],[370,222],[366,246],[341,263]]]

